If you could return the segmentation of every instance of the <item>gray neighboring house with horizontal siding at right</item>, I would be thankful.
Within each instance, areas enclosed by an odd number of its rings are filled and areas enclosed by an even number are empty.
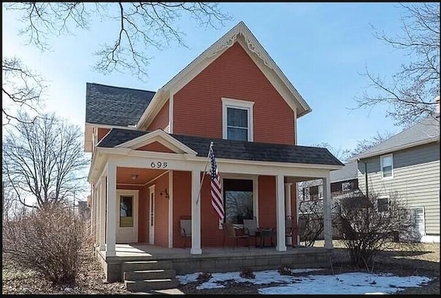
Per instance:
[[[428,117],[351,159],[358,161],[358,187],[405,199],[422,242],[440,242],[440,114]]]

